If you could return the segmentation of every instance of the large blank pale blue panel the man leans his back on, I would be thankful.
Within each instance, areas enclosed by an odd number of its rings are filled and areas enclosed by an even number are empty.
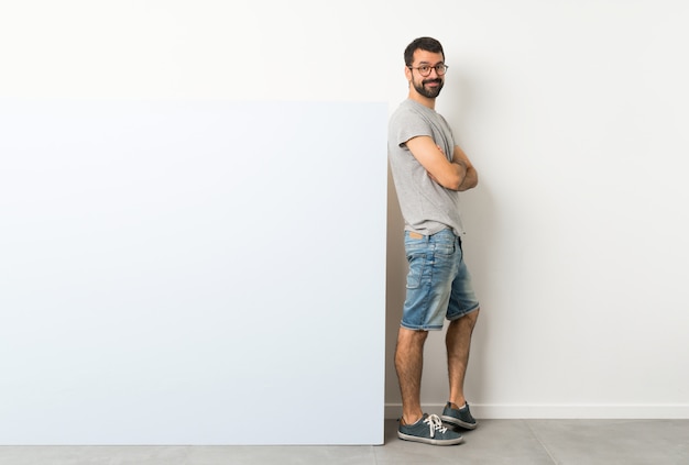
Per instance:
[[[0,443],[382,443],[384,104],[3,103]]]

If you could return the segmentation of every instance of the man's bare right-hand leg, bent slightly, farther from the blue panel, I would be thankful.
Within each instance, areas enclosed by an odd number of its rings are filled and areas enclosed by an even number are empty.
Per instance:
[[[450,402],[455,403],[456,408],[462,407],[467,401],[464,399],[464,375],[469,364],[471,333],[478,318],[479,310],[450,322],[445,337],[450,379]]]

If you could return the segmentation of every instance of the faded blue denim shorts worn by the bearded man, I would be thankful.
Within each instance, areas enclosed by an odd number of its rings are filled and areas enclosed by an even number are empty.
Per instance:
[[[409,262],[402,326],[441,330],[445,319],[457,320],[479,309],[471,276],[462,259],[461,239],[451,230],[404,234]]]

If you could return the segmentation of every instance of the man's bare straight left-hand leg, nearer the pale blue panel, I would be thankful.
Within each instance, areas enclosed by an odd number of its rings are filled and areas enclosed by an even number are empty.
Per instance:
[[[422,372],[424,367],[424,343],[427,331],[413,331],[400,328],[395,368],[402,392],[402,420],[404,424],[414,424],[424,414],[420,401]]]

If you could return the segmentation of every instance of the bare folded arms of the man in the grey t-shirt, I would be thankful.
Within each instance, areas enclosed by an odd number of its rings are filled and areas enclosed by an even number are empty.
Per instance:
[[[427,135],[408,140],[406,146],[426,168],[428,176],[440,186],[464,191],[479,184],[475,168],[459,146],[455,146],[451,160],[447,159],[442,150]]]

